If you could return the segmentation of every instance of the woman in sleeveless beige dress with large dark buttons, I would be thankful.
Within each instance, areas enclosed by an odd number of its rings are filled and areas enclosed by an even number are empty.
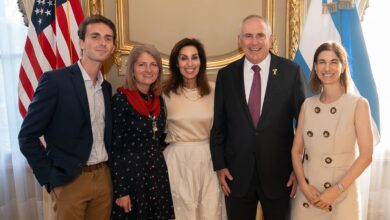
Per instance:
[[[299,115],[292,161],[299,188],[292,219],[360,219],[356,179],[372,160],[366,99],[348,92],[347,54],[325,42],[314,54],[312,92]]]

